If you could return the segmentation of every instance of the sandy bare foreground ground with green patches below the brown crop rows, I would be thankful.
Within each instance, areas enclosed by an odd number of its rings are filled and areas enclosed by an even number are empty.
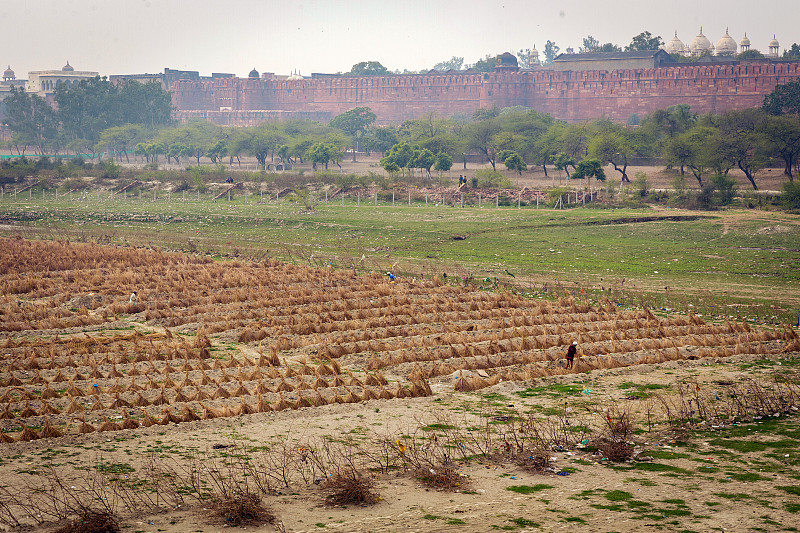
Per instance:
[[[401,435],[417,427],[443,420],[463,421],[458,408],[502,408],[506,402],[525,412],[533,406],[574,409],[576,419],[596,419],[610,404],[626,404],[641,411],[643,400],[627,400],[630,391],[620,385],[676,387],[689,381],[699,387],[746,378],[770,379],[772,365],[741,370],[757,356],[733,356],[704,361],[673,361],[659,365],[638,365],[590,374],[551,377],[526,383],[501,383],[477,393],[454,393],[452,379],[432,383],[435,395],[406,400],[371,400],[353,405],[304,408],[270,414],[255,414],[213,421],[198,421],[167,427],[153,426],[112,434],[70,436],[49,441],[3,445],[0,479],[19,476],[20,470],[36,468],[43,456],[58,456],[77,450],[76,463],[91,463],[102,457],[109,463],[128,464],[142,469],[150,453],[163,461],[179,460],[187,452],[201,455],[218,453],[214,445],[234,442],[258,446],[285,439],[298,443],[315,435],[347,438],[352,435]],[[531,386],[553,383],[577,384],[584,393],[553,397],[520,398],[515,392]],[[491,400],[482,399],[490,393]],[[495,405],[490,405],[494,402]],[[596,420],[595,420],[596,421]],[[797,435],[796,419],[786,426]],[[754,424],[757,428],[757,425]],[[724,433],[723,433],[724,435]],[[765,436],[769,441],[772,437]],[[658,460],[685,469],[681,471],[615,470],[598,464],[598,457],[580,450],[553,452],[558,468],[572,467],[569,476],[532,474],[498,460],[474,460],[460,465],[470,480],[471,491],[437,492],[427,489],[407,475],[379,476],[382,501],[371,507],[331,508],[323,505],[318,487],[292,487],[268,497],[267,503],[283,523],[285,531],[563,531],[578,526],[581,531],[778,531],[797,525],[797,514],[785,506],[797,497],[776,490],[776,485],[797,486],[800,478],[795,445],[781,450],[789,456],[780,473],[764,473],[764,459],[758,453],[730,453],[708,445],[703,436],[692,439],[693,446],[677,444],[670,432],[637,436],[639,447],[648,450],[677,451],[678,457]],[[687,453],[688,452],[688,453]],[[685,455],[684,455],[685,454]],[[781,453],[783,455],[783,453]],[[789,463],[791,461],[791,463]],[[783,461],[775,461],[781,463]],[[789,467],[789,464],[793,466]],[[625,465],[628,468],[630,465]],[[633,468],[633,467],[631,467]],[[677,473],[676,473],[677,472]],[[709,473],[706,473],[709,472]],[[761,472],[757,481],[731,479],[729,473]],[[533,494],[518,494],[511,486],[549,485]],[[587,491],[589,491],[587,493]],[[604,498],[604,491],[625,491],[632,500],[647,502],[661,511],[650,511],[655,518],[641,518],[626,509],[610,511],[591,507],[617,502]],[[587,495],[588,494],[588,495]],[[720,496],[722,494],[723,496]],[[670,500],[670,502],[665,502]],[[682,502],[676,504],[675,502]],[[625,502],[622,502],[625,503]],[[688,511],[688,512],[686,512]],[[677,513],[677,516],[676,514]],[[638,519],[633,519],[639,516]],[[517,522],[514,522],[517,520]],[[527,522],[529,521],[529,522]],[[450,522],[450,523],[448,523]],[[516,526],[515,524],[523,524]],[[538,524],[538,527],[525,524]],[[176,509],[152,516],[126,519],[123,531],[167,531],[175,533],[222,531],[219,520],[209,519],[208,507]],[[273,531],[273,526],[248,526],[248,530]],[[794,529],[788,529],[794,530]]]

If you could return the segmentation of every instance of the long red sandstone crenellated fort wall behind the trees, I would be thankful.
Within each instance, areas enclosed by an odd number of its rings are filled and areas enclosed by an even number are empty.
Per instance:
[[[427,113],[471,115],[479,107],[522,105],[579,122],[689,104],[697,113],[761,105],[776,85],[800,79],[800,62],[686,65],[607,71],[496,71],[329,77],[304,80],[224,78],[176,82],[173,103],[181,120],[203,116],[228,125],[278,118],[326,120],[358,106],[379,123]]]

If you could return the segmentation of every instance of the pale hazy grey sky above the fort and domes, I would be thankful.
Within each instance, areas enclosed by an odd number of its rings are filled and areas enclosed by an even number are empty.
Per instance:
[[[592,35],[626,45],[650,31],[689,43],[730,28],[767,52],[800,42],[798,0],[0,0],[0,64],[17,78],[61,68],[101,75],[164,67],[301,74],[346,72],[359,61],[419,70],[452,56],[474,63],[554,41],[562,51]]]

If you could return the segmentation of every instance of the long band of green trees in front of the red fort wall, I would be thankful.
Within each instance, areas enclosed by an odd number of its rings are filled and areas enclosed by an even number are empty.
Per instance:
[[[594,162],[610,166],[630,182],[635,158],[659,158],[702,187],[711,176],[739,169],[758,189],[758,174],[781,164],[790,181],[800,171],[800,81],[778,86],[761,108],[722,115],[698,115],[688,105],[657,110],[628,124],[595,120],[567,124],[524,107],[481,108],[472,116],[424,117],[376,126],[376,115],[357,107],[329,123],[308,120],[269,122],[255,127],[222,127],[198,121],[174,124],[169,93],[158,84],[122,86],[95,78],[59,88],[54,109],[35,94],[12,91],[5,100],[10,148],[25,153],[106,152],[130,161],[197,165],[205,160],[241,164],[254,157],[269,162],[340,165],[348,151],[382,153],[389,173],[422,169],[466,169],[479,154],[492,169],[504,165],[521,174],[530,167],[547,175],[554,168],[570,176],[589,172]],[[582,161],[587,161],[579,169]],[[599,177],[599,176],[594,176]]]

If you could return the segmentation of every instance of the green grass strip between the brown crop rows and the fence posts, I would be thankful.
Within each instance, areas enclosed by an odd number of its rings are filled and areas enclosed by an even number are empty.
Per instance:
[[[100,197],[103,198],[103,197]],[[800,222],[763,211],[409,207],[372,199],[287,200],[6,197],[0,234],[150,245],[216,257],[275,257],[389,271],[447,273],[529,293],[796,323]],[[452,279],[452,278],[451,278]],[[583,293],[583,294],[581,294]]]

